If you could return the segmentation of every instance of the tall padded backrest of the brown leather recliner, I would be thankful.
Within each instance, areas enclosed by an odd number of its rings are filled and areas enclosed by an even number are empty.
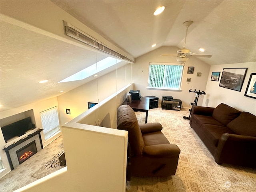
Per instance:
[[[128,141],[130,143],[132,153],[136,155],[142,155],[144,141],[137,117],[130,106],[121,105],[118,107],[117,128],[129,132]]]

